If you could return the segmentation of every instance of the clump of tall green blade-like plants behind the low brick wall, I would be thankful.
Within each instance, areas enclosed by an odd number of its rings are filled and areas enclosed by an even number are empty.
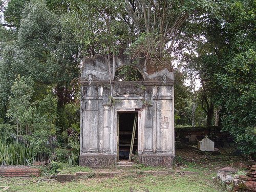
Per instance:
[[[25,143],[0,139],[0,165],[30,165],[36,155],[33,151]]]

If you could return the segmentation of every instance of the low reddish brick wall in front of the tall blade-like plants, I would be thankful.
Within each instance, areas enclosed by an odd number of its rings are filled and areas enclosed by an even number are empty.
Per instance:
[[[40,169],[27,166],[0,166],[2,177],[39,177]]]

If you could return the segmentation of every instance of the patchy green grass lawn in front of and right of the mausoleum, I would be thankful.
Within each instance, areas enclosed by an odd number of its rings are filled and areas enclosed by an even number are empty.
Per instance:
[[[188,191],[188,192],[219,192],[222,186],[214,183],[212,177],[216,176],[221,167],[235,168],[239,158],[229,155],[211,156],[198,155],[191,150],[176,151],[176,170],[134,166],[125,169],[125,172],[113,178],[83,178],[74,182],[59,183],[49,178],[0,178],[0,186],[9,186],[8,191]],[[184,160],[186,159],[186,160]],[[72,168],[70,173],[77,172],[79,167]],[[90,170],[90,169],[88,169]],[[106,170],[106,169],[104,169]],[[111,170],[120,170],[113,168]],[[147,170],[168,170],[169,175],[147,175]],[[67,170],[63,170],[67,173]],[[97,172],[98,170],[92,170]],[[197,172],[197,174],[183,172]]]

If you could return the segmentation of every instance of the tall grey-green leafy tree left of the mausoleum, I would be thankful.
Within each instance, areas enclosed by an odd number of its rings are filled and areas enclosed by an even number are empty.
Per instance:
[[[47,3],[49,6],[36,0],[11,0],[6,6],[6,22],[14,26],[6,31],[8,34],[13,31],[16,36],[1,44],[3,116],[17,75],[32,77],[37,85],[34,99],[44,99],[49,90],[54,90],[58,96],[59,115],[66,103],[74,102],[78,97],[79,50],[70,25],[66,23],[69,19],[67,4],[58,7],[60,1]],[[22,13],[15,11],[20,8],[24,9]],[[59,127],[64,129],[60,122]]]

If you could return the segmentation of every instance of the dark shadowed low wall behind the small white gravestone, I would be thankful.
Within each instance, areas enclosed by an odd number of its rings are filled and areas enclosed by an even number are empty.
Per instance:
[[[221,132],[221,126],[196,126],[196,127],[176,127],[175,147],[183,145],[197,145],[198,141],[205,138],[215,142],[215,147],[233,146],[233,138],[227,132]]]

